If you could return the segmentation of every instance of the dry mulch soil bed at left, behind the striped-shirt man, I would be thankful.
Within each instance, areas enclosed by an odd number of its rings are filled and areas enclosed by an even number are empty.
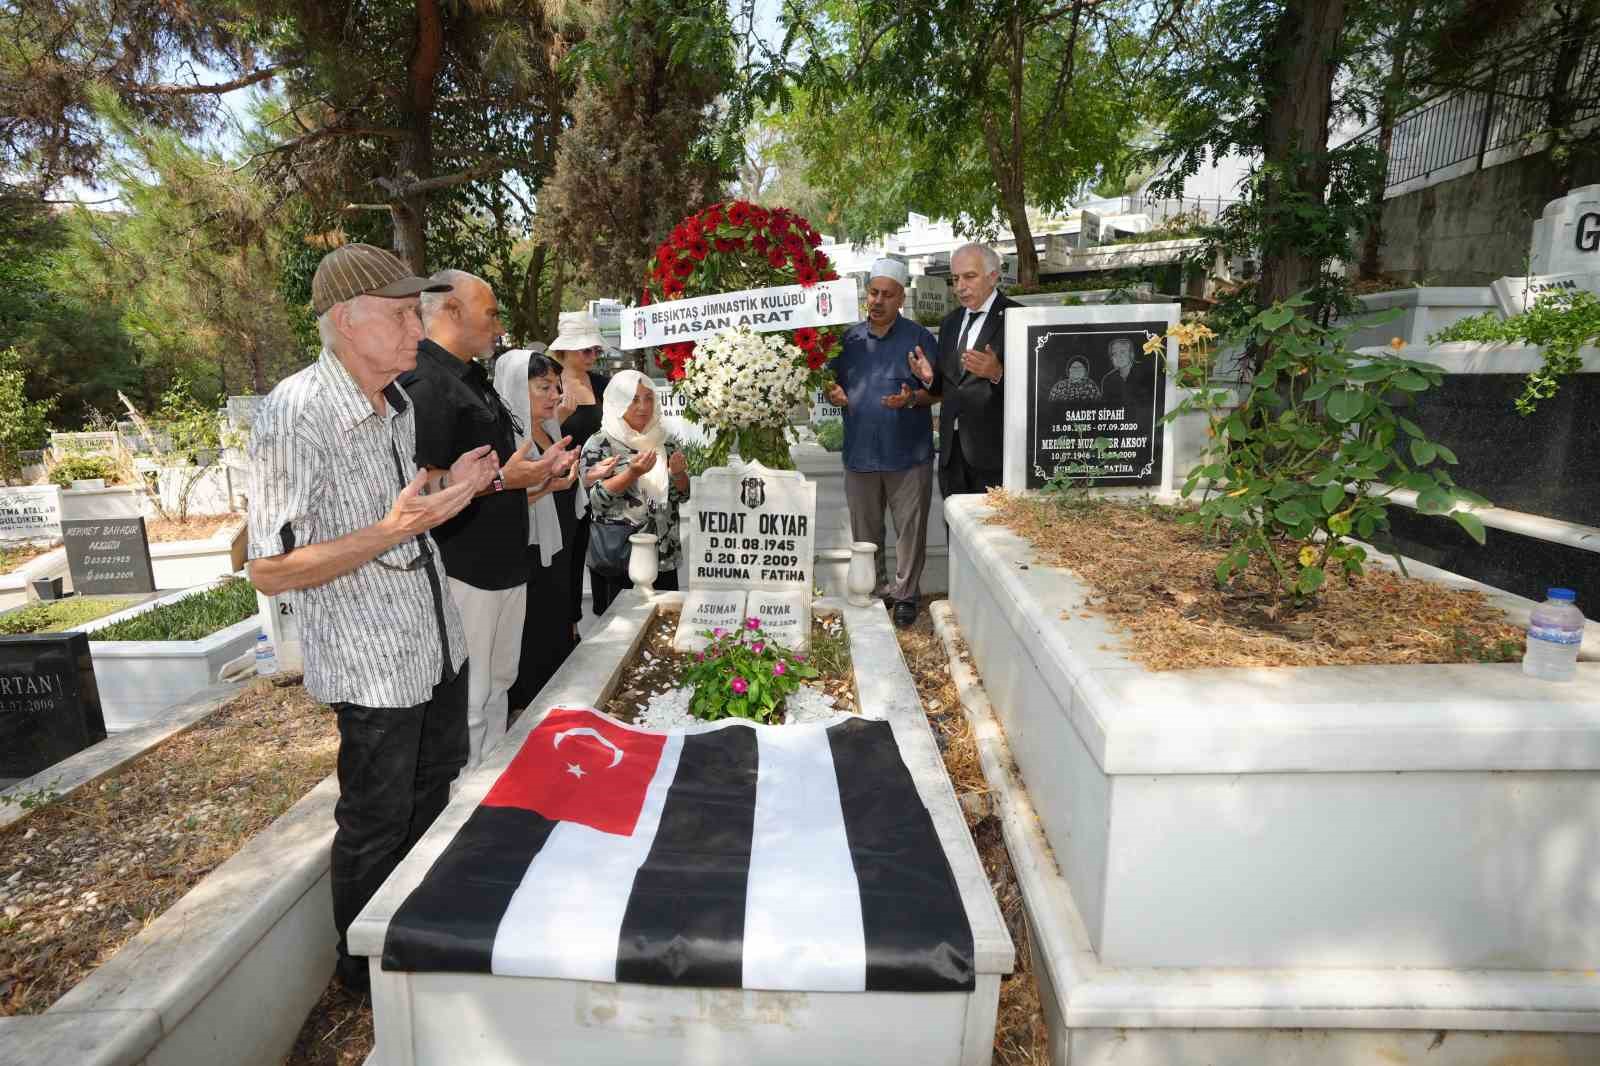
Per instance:
[[[298,680],[0,829],[0,1015],[46,1010],[333,773],[333,711]]]

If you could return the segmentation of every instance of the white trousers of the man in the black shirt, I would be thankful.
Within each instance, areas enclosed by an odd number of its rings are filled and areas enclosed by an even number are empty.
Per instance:
[[[450,599],[467,631],[467,770],[506,736],[506,690],[522,659],[528,586],[480,589],[450,579]]]

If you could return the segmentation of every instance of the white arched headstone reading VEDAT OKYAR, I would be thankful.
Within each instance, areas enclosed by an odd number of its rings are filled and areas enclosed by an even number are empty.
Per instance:
[[[811,594],[816,485],[760,463],[706,471],[690,517],[690,587]]]

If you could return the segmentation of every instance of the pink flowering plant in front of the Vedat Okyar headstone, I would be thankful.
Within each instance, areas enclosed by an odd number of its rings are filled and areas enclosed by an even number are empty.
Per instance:
[[[755,618],[746,618],[733,631],[707,629],[704,635],[710,647],[690,658],[678,674],[678,685],[694,688],[690,714],[704,722],[773,722],[789,693],[818,675],[806,656],[768,637]]]

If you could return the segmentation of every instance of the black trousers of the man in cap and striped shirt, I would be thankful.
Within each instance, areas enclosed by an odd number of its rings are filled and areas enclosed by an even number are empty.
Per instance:
[[[414,707],[333,706],[339,715],[339,802],[333,808],[333,924],[339,978],[365,986],[346,933],[368,900],[450,802],[467,765],[467,666]]]

